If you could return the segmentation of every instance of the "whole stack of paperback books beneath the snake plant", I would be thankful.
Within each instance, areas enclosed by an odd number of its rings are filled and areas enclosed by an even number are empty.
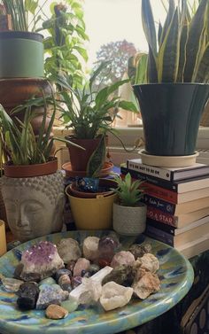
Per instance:
[[[209,249],[209,166],[153,167],[128,159],[120,173],[144,181],[146,235],[187,258]]]

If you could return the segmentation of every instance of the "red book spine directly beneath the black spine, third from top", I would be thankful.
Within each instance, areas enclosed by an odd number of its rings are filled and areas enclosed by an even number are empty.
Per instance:
[[[162,187],[159,187],[155,184],[151,184],[151,183],[147,183],[144,182],[143,183],[144,186],[144,192],[145,194],[154,196],[156,198],[161,198],[166,200],[167,202],[173,203],[173,204],[177,204],[177,199],[178,199],[178,193],[174,192],[172,190],[168,190]]]

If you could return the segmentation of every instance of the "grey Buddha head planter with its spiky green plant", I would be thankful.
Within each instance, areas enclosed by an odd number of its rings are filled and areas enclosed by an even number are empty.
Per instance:
[[[0,107],[1,164],[4,154],[1,190],[9,227],[20,241],[41,237],[62,228],[64,180],[62,172],[58,171],[58,160],[51,157],[56,138],[50,137],[50,132],[56,108],[45,132],[46,101],[38,136],[35,136],[31,126],[31,120],[35,117],[32,106],[42,104],[41,98],[27,101],[23,121],[12,119]],[[65,139],[59,140],[66,142]]]

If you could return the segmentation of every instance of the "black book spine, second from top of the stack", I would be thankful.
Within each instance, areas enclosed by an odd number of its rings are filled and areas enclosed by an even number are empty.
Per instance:
[[[163,179],[159,179],[155,176],[152,176],[152,175],[146,175],[146,174],[143,174],[141,172],[136,172],[135,170],[132,170],[132,169],[129,169],[128,167],[123,167],[121,166],[120,167],[120,173],[123,174],[123,175],[127,175],[128,173],[130,173],[130,175],[132,177],[134,177],[135,179],[141,179],[143,181],[147,181],[149,183],[152,183],[152,184],[155,184],[155,185],[158,185],[159,187],[163,187],[163,188],[166,188],[168,190],[173,190],[173,191],[176,191],[178,190],[178,185],[175,184],[175,183],[172,183],[170,181],[166,181],[166,180],[163,180]]]

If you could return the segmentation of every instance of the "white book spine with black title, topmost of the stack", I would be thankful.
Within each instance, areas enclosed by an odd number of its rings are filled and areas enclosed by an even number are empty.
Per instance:
[[[155,177],[159,177],[159,179],[173,181],[173,173],[172,171],[167,169],[144,165],[140,162],[131,161],[129,159],[127,160],[127,167],[131,170],[135,170],[145,175],[152,175]]]

